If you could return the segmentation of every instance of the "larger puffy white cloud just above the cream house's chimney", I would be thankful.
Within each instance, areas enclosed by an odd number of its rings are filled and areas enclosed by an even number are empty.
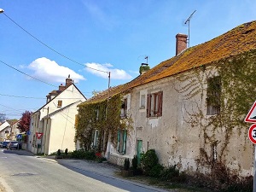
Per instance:
[[[32,74],[34,78],[45,80],[47,82],[62,83],[67,79],[68,75],[70,75],[70,78],[76,83],[79,82],[79,80],[84,80],[82,75],[75,73],[72,69],[60,66],[55,61],[50,61],[45,57],[32,61],[28,68],[34,71]]]

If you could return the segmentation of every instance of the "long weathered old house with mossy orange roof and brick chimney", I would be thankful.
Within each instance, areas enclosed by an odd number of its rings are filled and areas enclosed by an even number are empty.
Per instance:
[[[255,100],[256,21],[189,49],[186,35],[176,38],[175,56],[84,102],[79,120],[84,106],[108,100],[113,108],[113,97],[120,95],[125,103],[116,105],[120,121],[131,119],[133,129],[111,126],[104,150],[108,161],[122,166],[125,158],[154,149],[160,164],[191,174],[219,168],[253,175],[253,144],[244,118]]]

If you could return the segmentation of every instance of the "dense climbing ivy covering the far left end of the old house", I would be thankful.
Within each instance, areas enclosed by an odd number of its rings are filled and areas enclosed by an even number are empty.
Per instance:
[[[131,117],[121,119],[121,94],[111,96],[99,102],[84,102],[79,105],[79,119],[75,140],[81,148],[89,150],[92,143],[93,131],[99,131],[97,151],[106,151],[108,141],[117,145],[118,130],[133,129]],[[93,101],[93,100],[92,100]]]

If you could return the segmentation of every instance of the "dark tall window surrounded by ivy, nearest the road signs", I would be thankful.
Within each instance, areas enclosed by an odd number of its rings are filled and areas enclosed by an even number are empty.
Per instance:
[[[220,77],[207,79],[207,114],[220,113]]]

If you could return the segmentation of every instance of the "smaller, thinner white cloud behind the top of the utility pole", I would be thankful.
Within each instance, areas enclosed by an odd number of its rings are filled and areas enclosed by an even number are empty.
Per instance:
[[[93,73],[99,77],[104,79],[108,79],[108,73],[111,73],[111,79],[131,79],[131,75],[126,73],[125,70],[112,68],[113,65],[106,63],[106,64],[99,64],[99,63],[85,63],[85,70],[89,73]],[[96,70],[95,70],[96,69]]]

